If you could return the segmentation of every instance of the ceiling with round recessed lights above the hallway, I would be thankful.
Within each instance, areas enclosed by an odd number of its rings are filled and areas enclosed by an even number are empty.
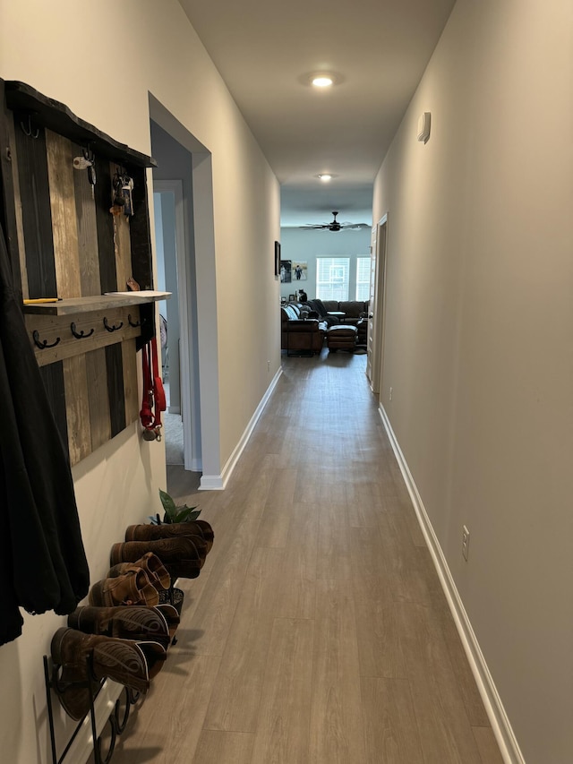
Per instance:
[[[278,176],[282,224],[372,223],[374,176],[455,0],[179,2]],[[339,84],[304,84],[317,71]]]

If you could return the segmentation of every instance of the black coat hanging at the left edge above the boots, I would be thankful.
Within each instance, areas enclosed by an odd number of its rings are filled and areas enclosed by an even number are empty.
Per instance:
[[[19,605],[68,614],[89,585],[72,473],[0,227],[0,644],[21,634]]]

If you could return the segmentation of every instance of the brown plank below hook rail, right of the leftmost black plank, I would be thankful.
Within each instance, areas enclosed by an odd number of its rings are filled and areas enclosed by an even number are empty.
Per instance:
[[[91,452],[86,358],[84,355],[66,358],[63,368],[70,462],[74,465]]]

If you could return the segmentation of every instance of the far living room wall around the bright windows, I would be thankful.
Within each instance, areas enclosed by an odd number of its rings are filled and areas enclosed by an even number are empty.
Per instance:
[[[370,228],[359,231],[304,231],[300,228],[280,229],[281,260],[306,261],[308,263],[307,280],[296,281],[292,274],[290,284],[280,285],[280,296],[286,297],[304,289],[309,299],[316,296],[316,258],[350,258],[350,284],[348,299],[355,299],[356,257],[370,256]]]

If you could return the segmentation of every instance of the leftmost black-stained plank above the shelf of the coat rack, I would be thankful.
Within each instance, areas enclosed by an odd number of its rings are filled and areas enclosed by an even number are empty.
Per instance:
[[[31,298],[56,296],[56,268],[52,238],[52,213],[47,179],[46,135],[42,127],[31,123],[38,137],[25,135],[21,122],[28,116],[14,114],[14,132],[18,152],[22,227]],[[36,132],[33,133],[36,135]]]

